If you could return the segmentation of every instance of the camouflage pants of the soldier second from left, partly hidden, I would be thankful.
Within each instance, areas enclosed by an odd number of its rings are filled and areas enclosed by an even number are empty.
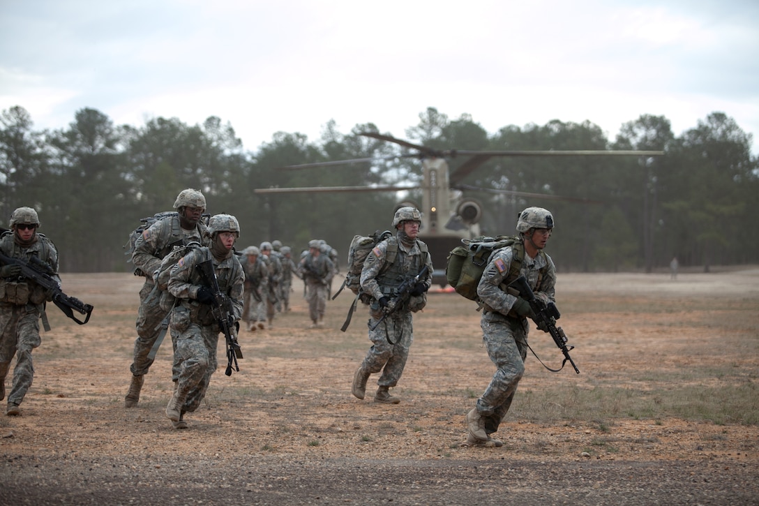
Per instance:
[[[159,293],[153,291],[153,283],[145,283],[140,289],[140,308],[137,309],[137,339],[134,340],[134,361],[129,370],[135,376],[147,374],[154,358],[150,357],[150,350],[156,344],[168,321],[164,321],[168,312],[159,305]],[[172,336],[172,349],[176,355],[176,343]],[[176,362],[176,361],[175,361]],[[172,364],[172,381],[176,381],[179,374],[176,363]]]

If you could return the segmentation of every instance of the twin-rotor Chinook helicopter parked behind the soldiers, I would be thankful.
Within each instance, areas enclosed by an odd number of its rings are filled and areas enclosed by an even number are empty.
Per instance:
[[[480,218],[483,214],[481,204],[474,199],[465,198],[463,190],[490,191],[510,194],[527,198],[552,199],[563,201],[588,202],[582,198],[562,197],[559,195],[528,193],[524,191],[509,191],[494,188],[479,188],[464,185],[461,181],[471,174],[474,169],[493,157],[569,157],[569,156],[636,156],[652,157],[663,155],[663,151],[643,150],[436,150],[419,144],[402,141],[391,135],[376,132],[361,132],[360,135],[387,141],[413,150],[411,153],[392,157],[359,158],[353,160],[335,160],[331,162],[304,163],[281,167],[281,169],[310,169],[325,166],[338,166],[348,163],[376,162],[396,158],[416,158],[422,165],[420,186],[317,186],[309,188],[257,188],[257,194],[289,194],[334,191],[422,191],[422,205],[414,201],[401,201],[399,207],[417,207],[422,214],[418,238],[427,243],[433,266],[433,283],[446,286],[446,258],[449,252],[461,244],[461,239],[471,239],[480,235]],[[447,160],[455,157],[466,157],[464,163],[455,171],[449,173]]]

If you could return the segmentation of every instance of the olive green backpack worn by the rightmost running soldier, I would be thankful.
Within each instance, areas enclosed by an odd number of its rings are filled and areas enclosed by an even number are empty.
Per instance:
[[[524,245],[521,239],[513,236],[478,236],[474,239],[461,239],[464,245],[452,249],[446,260],[446,278],[456,293],[467,299],[479,302],[477,285],[487,267],[490,255],[496,249],[512,246],[514,258],[509,267],[507,280],[516,279],[524,258]],[[541,251],[541,254],[543,252]]]

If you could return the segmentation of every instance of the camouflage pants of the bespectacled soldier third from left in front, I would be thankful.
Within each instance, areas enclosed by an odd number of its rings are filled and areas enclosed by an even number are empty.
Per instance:
[[[172,312],[172,340],[176,342],[175,363],[179,368],[177,391],[184,397],[183,411],[197,410],[206,397],[211,375],[219,362],[216,346],[219,344],[219,326],[214,323],[200,325],[190,321],[187,308],[178,307]]]

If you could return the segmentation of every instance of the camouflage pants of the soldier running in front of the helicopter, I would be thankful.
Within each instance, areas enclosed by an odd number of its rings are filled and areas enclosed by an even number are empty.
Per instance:
[[[371,327],[381,317],[382,313],[373,313],[367,325]],[[385,318],[374,330],[369,330],[372,347],[361,367],[371,374],[382,371],[377,380],[380,387],[395,387],[401,379],[408,359],[408,349],[414,341],[411,320],[411,312],[396,312]],[[389,343],[388,337],[395,344]]]

